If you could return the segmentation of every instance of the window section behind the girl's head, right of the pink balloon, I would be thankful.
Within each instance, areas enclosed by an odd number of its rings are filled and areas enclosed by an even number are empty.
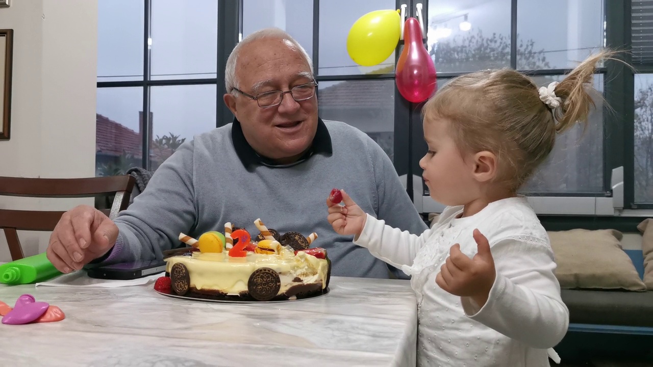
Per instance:
[[[466,72],[511,67],[530,74],[538,86],[560,81],[580,61],[605,44],[605,5],[596,0],[556,0],[548,3],[511,0],[430,1],[426,46],[432,55],[439,88]],[[543,19],[547,21],[542,22]],[[602,65],[601,65],[602,66]],[[599,67],[594,88],[603,92],[607,69]],[[541,214],[565,214],[565,207],[537,205],[550,197],[567,202],[605,199],[604,114],[601,95],[595,98],[587,129],[576,127],[559,135],[549,159],[535,172],[522,192],[530,195]],[[415,125],[421,131],[421,126]],[[413,170],[426,145],[413,142]],[[428,197],[424,208],[440,208]],[[585,214],[596,214],[592,210]],[[578,214],[578,213],[569,213]]]

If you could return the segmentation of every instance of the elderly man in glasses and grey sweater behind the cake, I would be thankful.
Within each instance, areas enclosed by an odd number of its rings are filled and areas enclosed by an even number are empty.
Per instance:
[[[383,150],[358,129],[317,116],[311,65],[284,31],[246,37],[227,61],[224,101],[234,121],[183,144],[115,221],[89,206],[67,212],[48,259],[63,272],[161,259],[180,232],[197,238],[231,222],[256,234],[260,217],[281,233],[317,232],[313,246],[327,249],[336,276],[388,278],[387,264],[329,225],[330,190],[345,189],[393,227],[420,234],[426,225]]]

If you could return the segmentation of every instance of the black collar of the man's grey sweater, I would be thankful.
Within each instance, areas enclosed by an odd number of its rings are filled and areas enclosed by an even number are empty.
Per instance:
[[[253,171],[254,168],[259,165],[276,168],[292,167],[298,163],[306,161],[314,154],[323,153],[325,155],[331,155],[333,153],[331,136],[328,133],[327,125],[325,125],[321,118],[317,118],[317,131],[315,131],[315,137],[313,138],[311,147],[306,151],[306,153],[304,153],[304,155],[302,155],[302,157],[300,157],[300,159],[287,165],[280,165],[279,163],[275,163],[272,159],[259,155],[259,153],[249,145],[249,142],[247,142],[242,127],[240,126],[240,121],[236,118],[234,118],[231,125],[231,140],[234,144],[236,155],[238,155],[238,158],[249,172]]]

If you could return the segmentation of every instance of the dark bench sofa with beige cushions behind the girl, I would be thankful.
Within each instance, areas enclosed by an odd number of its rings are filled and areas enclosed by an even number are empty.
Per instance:
[[[653,362],[653,219],[628,231],[641,234],[642,249],[623,249],[624,232],[549,231],[569,308],[569,330],[555,348],[563,360]]]

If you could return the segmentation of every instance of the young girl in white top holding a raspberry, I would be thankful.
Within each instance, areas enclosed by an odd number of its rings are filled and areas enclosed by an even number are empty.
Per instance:
[[[553,148],[556,133],[593,105],[590,57],[539,90],[503,69],[460,76],[422,110],[430,196],[448,207],[421,236],[365,214],[342,192],[327,199],[340,234],[411,276],[420,366],[549,366],[569,311],[554,276],[547,232],[518,189]]]

